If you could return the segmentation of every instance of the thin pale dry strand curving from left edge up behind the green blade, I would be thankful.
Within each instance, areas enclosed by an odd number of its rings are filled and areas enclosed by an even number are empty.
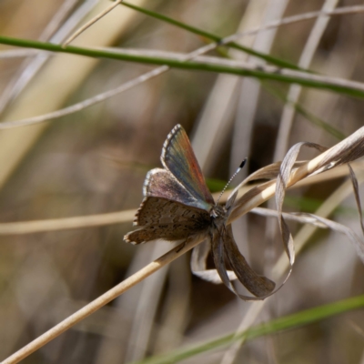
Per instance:
[[[113,4],[113,5],[115,5],[115,4]],[[215,49],[218,45],[227,44],[229,42],[235,41],[239,37],[246,36],[246,35],[254,35],[254,34],[259,33],[260,31],[268,30],[268,29],[271,29],[274,27],[278,27],[280,25],[288,25],[288,24],[293,24],[293,23],[297,23],[300,21],[306,21],[306,20],[315,18],[320,15],[349,15],[349,14],[357,14],[360,12],[364,12],[364,5],[341,7],[339,9],[335,9],[331,12],[329,12],[329,11],[327,11],[327,12],[310,12],[310,13],[301,14],[301,15],[288,16],[286,18],[283,18],[282,20],[279,20],[278,22],[272,22],[272,23],[269,23],[268,25],[258,27],[255,29],[251,29],[249,31],[237,33],[235,35],[229,35],[226,38],[224,38],[223,40],[221,40],[221,42],[211,43],[209,45],[202,46],[202,47],[198,48],[197,50],[189,53],[184,60],[187,61],[190,59],[194,59],[197,56],[203,55],[203,54],[209,52],[210,50]],[[129,88],[132,88],[134,86],[137,86],[137,85],[147,81],[150,78],[153,78],[164,72],[167,72],[168,69],[169,69],[169,66],[159,66],[155,70],[147,72],[146,74],[144,74],[142,76],[137,76],[136,78],[126,82],[125,84],[123,84],[119,87],[116,87],[113,90],[109,90],[109,91],[106,91],[105,93],[90,97],[80,103],[74,104],[73,106],[68,106],[68,107],[59,109],[56,112],[44,114],[41,116],[28,117],[25,119],[15,120],[12,122],[4,122],[4,123],[0,124],[0,129],[44,123],[45,121],[54,119],[56,117],[70,115],[77,111],[83,110],[86,107],[96,105],[97,103],[102,102],[109,97],[116,96],[116,95],[128,90]],[[277,72],[277,67],[276,68],[273,67],[272,72],[274,72],[274,73]],[[326,78],[328,79],[328,77],[326,77]],[[341,81],[346,81],[346,80],[341,80]],[[347,81],[347,82],[349,82],[349,81]],[[356,83],[356,84],[359,84],[359,83]],[[347,85],[348,84],[346,84],[346,86]],[[359,86],[359,85],[354,85],[354,86]]]

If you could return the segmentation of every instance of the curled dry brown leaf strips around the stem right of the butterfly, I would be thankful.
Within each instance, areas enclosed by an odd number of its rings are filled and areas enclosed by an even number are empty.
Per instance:
[[[308,162],[297,161],[298,153],[301,147],[314,147],[321,152],[319,157],[314,158]],[[246,300],[256,300],[266,298],[273,293],[277,292],[284,283],[287,281],[295,262],[295,250],[292,235],[290,233],[288,224],[286,223],[286,218],[296,219],[299,222],[314,224],[319,227],[329,227],[335,231],[345,234],[349,240],[354,244],[359,258],[364,262],[364,242],[360,239],[351,229],[344,227],[336,222],[330,221],[326,218],[317,217],[312,214],[285,214],[282,211],[283,201],[286,194],[286,189],[292,186],[298,180],[312,176],[329,170],[333,167],[337,167],[342,164],[348,164],[349,162],[362,157],[364,155],[364,128],[360,128],[356,133],[352,134],[348,138],[341,141],[338,145],[327,148],[319,146],[314,143],[298,143],[297,145],[291,147],[283,159],[283,161],[269,165],[259,169],[254,174],[247,177],[232,193],[237,194],[238,188],[244,186],[248,182],[257,179],[269,179],[258,187],[250,189],[245,195],[239,197],[234,204],[232,211],[230,213],[230,218],[227,224],[231,223],[232,220],[244,215],[248,210],[252,209],[256,202],[254,199],[260,197],[260,203],[272,197],[272,194],[267,193],[264,195],[268,189],[273,188],[275,185],[277,212],[272,212],[271,210],[256,208],[253,212],[258,212],[262,215],[275,215],[278,217],[278,226],[285,248],[286,254],[289,260],[289,271],[287,277],[284,279],[278,288],[275,288],[275,283],[270,279],[259,276],[254,270],[252,270],[239,252],[238,246],[233,238],[231,226],[227,225],[224,232],[224,238],[222,239],[217,234],[212,237],[211,246],[212,253],[214,257],[215,266],[217,269],[206,270],[206,258],[208,255],[208,245],[204,243],[204,246],[195,248],[192,255],[191,268],[195,274],[201,278],[213,282],[222,281],[227,288],[236,293],[238,297]],[[356,197],[361,227],[364,232],[364,224],[362,222],[360,199],[359,199],[359,187],[357,178],[355,177],[354,171],[349,166],[349,173],[354,187],[354,194]],[[232,196],[230,195],[230,196]],[[263,197],[262,197],[263,196]],[[229,197],[231,199],[231,197]],[[249,208],[249,204],[251,207]],[[224,240],[224,243],[222,243]],[[227,270],[226,259],[233,269],[232,271]],[[219,279],[220,278],[220,279]],[[236,288],[231,284],[232,278],[238,278],[238,280],[255,296],[249,297],[241,295],[237,292]],[[274,289],[274,290],[273,290]]]

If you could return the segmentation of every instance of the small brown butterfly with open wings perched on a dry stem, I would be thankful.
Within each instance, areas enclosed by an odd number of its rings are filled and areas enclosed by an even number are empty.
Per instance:
[[[161,161],[164,169],[155,168],[147,174],[144,199],[134,220],[140,228],[128,233],[126,242],[186,239],[208,232],[217,218],[226,215],[207,189],[182,126],[175,126],[167,136]]]

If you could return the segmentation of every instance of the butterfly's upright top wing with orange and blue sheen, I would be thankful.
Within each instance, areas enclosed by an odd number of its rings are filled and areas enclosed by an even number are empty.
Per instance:
[[[207,206],[215,204],[182,126],[175,126],[167,136],[161,161],[193,197]]]

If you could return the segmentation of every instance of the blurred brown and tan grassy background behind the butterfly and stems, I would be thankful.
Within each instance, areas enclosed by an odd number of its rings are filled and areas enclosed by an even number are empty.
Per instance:
[[[86,17],[110,3],[57,0],[0,2],[1,35],[61,42]],[[134,1],[217,35],[257,28],[281,17],[360,5],[359,1],[182,0]],[[284,25],[240,42],[328,76],[362,81],[363,13]],[[74,25],[72,25],[74,22]],[[124,6],[106,15],[75,45],[187,53],[207,39]],[[315,43],[316,42],[316,43]],[[0,47],[2,121],[43,115],[120,86],[155,66],[81,56],[9,56]],[[3,55],[3,56],[2,56]],[[7,56],[5,56],[7,55]],[[221,56],[217,51],[209,56]],[[43,55],[44,56],[44,55]],[[234,51],[229,56],[261,63]],[[27,76],[31,76],[26,80]],[[290,91],[289,91],[290,90]],[[332,146],[339,139],[289,109],[298,103],[349,136],[362,126],[361,99],[329,91],[170,70],[146,83],[46,124],[0,131],[0,221],[77,217],[138,207],[147,170],[160,167],[167,134],[187,130],[207,180],[227,181],[243,157],[252,173],[284,157],[299,141]],[[289,94],[293,95],[293,94]],[[290,123],[290,121],[291,123]],[[302,158],[314,156],[302,153]],[[237,181],[242,177],[238,177]],[[343,179],[293,190],[288,211],[314,212]],[[335,220],[359,232],[352,194],[331,202]],[[338,209],[337,207],[341,207]],[[301,227],[292,225],[297,232]],[[132,221],[104,227],[0,236],[0,359],[95,299],[170,248],[127,245]],[[282,251],[271,221],[248,216],[235,234],[251,265],[269,277]],[[288,283],[258,321],[278,318],[363,293],[363,273],[349,241],[327,230],[308,235]],[[227,288],[195,278],[189,255],[130,289],[90,318],[25,359],[25,363],[126,363],[238,328],[248,308]],[[363,363],[364,313],[248,342],[236,363]],[[225,349],[224,349],[225,350]],[[188,363],[227,363],[225,351]],[[225,360],[225,361],[224,361]],[[360,361],[361,360],[361,361]]]

